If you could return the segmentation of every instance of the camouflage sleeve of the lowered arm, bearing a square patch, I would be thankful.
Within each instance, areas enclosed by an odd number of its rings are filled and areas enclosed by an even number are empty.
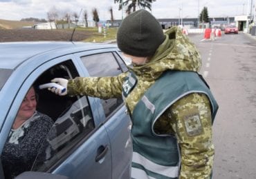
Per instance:
[[[210,101],[189,94],[171,109],[171,125],[181,149],[180,178],[210,178],[214,158]]]

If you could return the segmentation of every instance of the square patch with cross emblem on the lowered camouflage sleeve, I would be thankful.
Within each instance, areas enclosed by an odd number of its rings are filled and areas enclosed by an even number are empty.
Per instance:
[[[203,133],[203,126],[201,124],[199,114],[190,114],[183,117],[185,130],[188,136],[196,136]]]

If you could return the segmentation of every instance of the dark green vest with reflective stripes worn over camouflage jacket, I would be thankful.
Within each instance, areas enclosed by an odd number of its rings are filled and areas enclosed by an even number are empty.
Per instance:
[[[218,105],[210,89],[196,72],[165,72],[137,103],[131,116],[131,178],[179,178],[180,154],[176,138],[159,136],[154,133],[153,127],[168,107],[191,93],[208,96],[213,123]]]

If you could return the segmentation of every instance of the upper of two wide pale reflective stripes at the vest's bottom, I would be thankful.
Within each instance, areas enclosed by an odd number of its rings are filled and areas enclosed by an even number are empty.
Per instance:
[[[154,173],[159,173],[163,176],[167,176],[167,177],[171,177],[171,178],[178,177],[178,173],[179,173],[178,166],[171,167],[171,166],[158,165],[158,164],[148,160],[144,156],[141,156],[137,152],[133,152],[132,162],[136,162],[140,165],[143,165],[143,167],[145,167],[145,169],[147,169],[149,171],[153,171]]]

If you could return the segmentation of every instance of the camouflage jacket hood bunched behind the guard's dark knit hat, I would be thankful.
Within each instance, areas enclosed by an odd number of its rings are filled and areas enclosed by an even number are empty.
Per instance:
[[[199,72],[201,55],[188,36],[178,27],[167,30],[165,36],[148,63],[134,65],[130,70],[145,81],[155,81],[166,70]]]

